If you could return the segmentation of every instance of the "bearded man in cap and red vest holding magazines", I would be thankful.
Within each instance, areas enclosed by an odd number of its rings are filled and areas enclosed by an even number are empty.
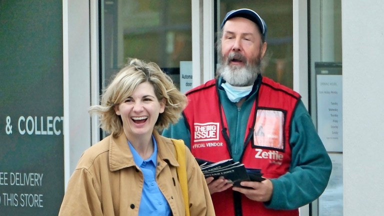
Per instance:
[[[261,76],[266,24],[253,10],[226,14],[214,80],[186,93],[183,118],[163,135],[198,159],[233,158],[261,169],[261,182],[206,178],[216,215],[298,215],[325,189],[331,161],[300,95]]]

